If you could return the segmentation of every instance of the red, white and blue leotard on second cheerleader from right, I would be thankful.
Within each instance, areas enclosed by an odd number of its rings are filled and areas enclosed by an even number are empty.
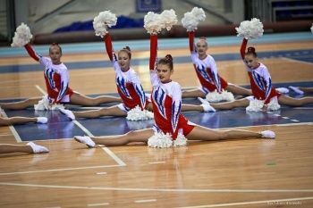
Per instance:
[[[216,61],[211,55],[207,54],[206,58],[199,59],[199,55],[194,46],[194,38],[194,31],[190,31],[189,46],[191,60],[202,86],[200,90],[206,94],[215,90],[222,92],[222,89],[227,87],[228,83],[218,75]]]

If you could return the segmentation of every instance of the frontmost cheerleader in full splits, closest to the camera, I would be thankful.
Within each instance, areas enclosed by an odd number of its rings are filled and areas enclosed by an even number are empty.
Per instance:
[[[208,129],[188,121],[181,113],[182,89],[171,79],[173,74],[173,58],[167,54],[157,62],[157,34],[150,35],[150,79],[152,84],[151,100],[155,117],[155,125],[151,129],[130,131],[123,135],[106,137],[80,137],[74,139],[89,147],[96,145],[123,146],[131,142],[148,143],[150,147],[170,147],[186,145],[189,140],[224,140],[238,138],[274,138],[270,130],[260,133],[246,130]],[[184,143],[176,143],[185,138]],[[167,140],[165,140],[167,139]]]

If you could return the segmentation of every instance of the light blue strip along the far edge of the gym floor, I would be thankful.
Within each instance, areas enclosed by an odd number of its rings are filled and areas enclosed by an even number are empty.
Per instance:
[[[197,32],[196,32],[197,36]],[[209,46],[229,46],[229,45],[241,45],[242,37],[226,36],[226,37],[207,37]],[[264,34],[258,39],[250,40],[252,44],[259,43],[279,43],[279,42],[292,42],[301,40],[313,40],[313,34],[307,32],[291,32],[291,33],[275,33]],[[160,38],[158,41],[158,47],[161,49],[167,48],[188,48],[188,38]],[[34,50],[38,54],[47,54],[48,47],[50,45],[33,46]],[[124,46],[130,46],[131,50],[148,50],[150,46],[149,39],[144,40],[114,40],[113,46],[115,50],[120,50]],[[82,54],[82,53],[102,53],[106,52],[105,43],[102,41],[91,43],[79,43],[79,44],[63,44],[63,54]],[[12,56],[25,56],[28,55],[23,47],[1,47],[0,57],[12,57]]]

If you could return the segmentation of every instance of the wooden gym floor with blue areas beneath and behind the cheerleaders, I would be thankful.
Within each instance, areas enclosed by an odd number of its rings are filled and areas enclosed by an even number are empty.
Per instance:
[[[208,37],[208,54],[220,76],[249,87],[240,37]],[[311,33],[265,35],[251,41],[275,87],[313,86]],[[132,68],[150,91],[148,40],[116,41],[115,52],[131,46]],[[47,55],[48,46],[34,46]],[[70,86],[89,96],[116,95],[114,71],[101,42],[63,45]],[[198,87],[188,40],[159,39],[159,57],[172,54],[173,79]],[[0,103],[43,96],[41,66],[23,48],[0,48]],[[299,95],[290,92],[289,96]],[[305,94],[304,96],[313,96]],[[197,99],[183,99],[199,104]],[[109,106],[104,104],[103,106]],[[85,110],[81,106],[67,106]],[[97,106],[98,107],[98,106]],[[183,112],[210,128],[270,129],[275,139],[191,142],[155,149],[142,144],[87,148],[75,135],[114,135],[151,127],[153,121],[103,117],[69,121],[60,112],[4,111],[3,116],[47,116],[48,123],[0,127],[0,143],[47,146],[49,154],[0,155],[0,207],[312,207],[313,104],[277,112]]]

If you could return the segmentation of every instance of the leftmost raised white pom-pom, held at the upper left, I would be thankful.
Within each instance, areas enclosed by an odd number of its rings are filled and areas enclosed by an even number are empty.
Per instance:
[[[23,22],[19,27],[17,27],[14,33],[12,47],[22,47],[30,43],[32,35],[30,33],[30,28]]]

